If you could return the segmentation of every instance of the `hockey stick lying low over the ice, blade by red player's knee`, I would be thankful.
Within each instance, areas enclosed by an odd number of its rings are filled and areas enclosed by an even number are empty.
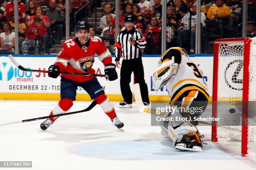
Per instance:
[[[84,110],[79,110],[79,111],[75,111],[75,112],[68,112],[68,113],[61,113],[61,114],[51,115],[51,116],[36,117],[36,118],[33,118],[33,119],[26,119],[26,120],[20,120],[20,121],[8,122],[8,123],[2,123],[2,124],[0,124],[0,126],[12,125],[12,124],[23,123],[23,122],[30,122],[30,121],[41,120],[41,119],[46,119],[46,118],[50,118],[50,117],[59,117],[59,116],[65,116],[65,115],[72,115],[72,114],[80,113],[80,112],[88,112],[88,111],[90,111],[95,105],[97,105],[97,102],[94,100],[94,101],[93,101],[86,109],[84,109]]]

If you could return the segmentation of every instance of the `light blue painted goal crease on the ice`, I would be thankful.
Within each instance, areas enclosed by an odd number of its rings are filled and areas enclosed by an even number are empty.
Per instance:
[[[241,158],[204,142],[205,152],[185,152],[175,149],[170,140],[103,141],[85,143],[74,148],[84,156],[114,160],[184,160],[184,159],[234,159]]]

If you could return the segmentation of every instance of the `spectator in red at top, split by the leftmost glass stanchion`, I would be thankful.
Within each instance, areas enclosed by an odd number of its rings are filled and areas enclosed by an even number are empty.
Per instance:
[[[21,18],[25,18],[25,5],[18,0],[18,12],[21,14]],[[13,20],[13,15],[14,15],[14,4],[13,1],[8,2],[5,7],[5,17],[7,18],[8,21]]]

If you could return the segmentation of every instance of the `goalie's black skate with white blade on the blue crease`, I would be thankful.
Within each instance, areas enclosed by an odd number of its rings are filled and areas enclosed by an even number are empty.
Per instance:
[[[178,150],[187,150],[193,152],[203,152],[202,144],[197,140],[192,140],[191,142],[177,142],[174,144],[174,148]]]

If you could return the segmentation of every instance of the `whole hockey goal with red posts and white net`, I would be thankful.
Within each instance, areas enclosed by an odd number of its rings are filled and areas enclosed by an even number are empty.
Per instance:
[[[216,40],[212,90],[212,140],[241,141],[242,155],[256,153],[256,38]],[[230,144],[234,145],[234,144]]]

